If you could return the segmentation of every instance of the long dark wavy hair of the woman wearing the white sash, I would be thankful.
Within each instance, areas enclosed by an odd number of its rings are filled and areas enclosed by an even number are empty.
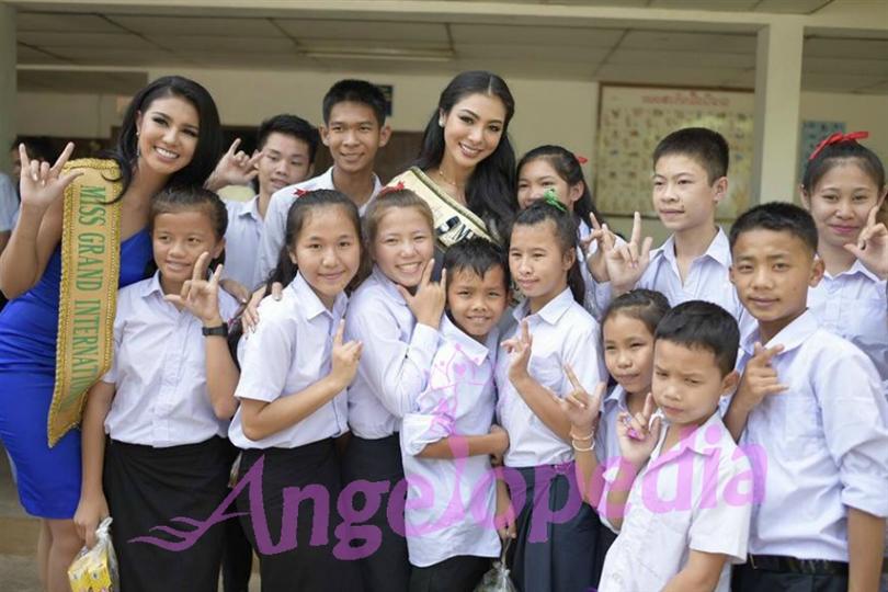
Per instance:
[[[441,164],[444,158],[444,128],[439,125],[441,113],[447,114],[453,106],[470,94],[488,94],[502,101],[505,121],[500,144],[473,171],[466,184],[466,205],[501,237],[509,236],[509,227],[517,210],[515,197],[515,151],[509,141],[509,122],[515,114],[515,100],[505,81],[499,76],[473,70],[456,76],[441,92],[437,109],[425,126],[422,148],[413,162],[414,167],[429,170]]]

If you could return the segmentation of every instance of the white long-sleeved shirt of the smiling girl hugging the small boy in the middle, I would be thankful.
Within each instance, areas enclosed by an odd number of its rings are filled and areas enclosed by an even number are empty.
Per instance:
[[[425,388],[440,333],[417,323],[395,283],[374,266],[352,295],[345,334],[364,344],[349,387],[349,425],[365,440],[389,436]]]

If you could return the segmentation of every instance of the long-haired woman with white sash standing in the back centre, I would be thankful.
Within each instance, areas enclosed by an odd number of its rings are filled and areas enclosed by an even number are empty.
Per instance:
[[[419,158],[389,182],[432,208],[437,247],[480,236],[504,242],[515,198],[515,152],[506,132],[515,101],[505,81],[486,71],[456,76],[441,93]]]

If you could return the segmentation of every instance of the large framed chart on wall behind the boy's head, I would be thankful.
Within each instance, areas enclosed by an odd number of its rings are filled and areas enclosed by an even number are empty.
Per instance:
[[[603,214],[656,216],[651,155],[682,127],[708,127],[730,146],[728,196],[719,219],[733,219],[750,203],[754,95],[752,92],[603,84],[599,114],[595,204]]]

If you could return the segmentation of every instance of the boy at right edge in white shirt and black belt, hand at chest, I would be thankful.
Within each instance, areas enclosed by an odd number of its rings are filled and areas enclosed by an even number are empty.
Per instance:
[[[823,275],[817,227],[771,203],[730,232],[731,281],[758,329],[741,342],[743,377],[725,415],[760,446],[761,505],[733,590],[877,590],[888,515],[888,402],[873,362],[807,310]]]

